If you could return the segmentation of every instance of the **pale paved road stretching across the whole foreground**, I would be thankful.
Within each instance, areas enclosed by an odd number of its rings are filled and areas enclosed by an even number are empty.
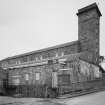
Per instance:
[[[0,97],[0,105],[105,105],[105,91],[67,99]]]

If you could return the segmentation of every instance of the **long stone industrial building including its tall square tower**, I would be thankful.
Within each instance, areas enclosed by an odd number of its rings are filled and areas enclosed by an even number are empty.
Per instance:
[[[98,67],[101,13],[94,3],[79,9],[77,16],[77,41],[0,61],[1,67],[8,71],[10,93],[49,97],[55,93],[63,94],[73,89],[88,88],[89,85],[79,83],[101,78]]]

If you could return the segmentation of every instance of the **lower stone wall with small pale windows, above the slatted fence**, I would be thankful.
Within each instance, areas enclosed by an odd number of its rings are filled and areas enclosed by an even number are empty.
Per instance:
[[[51,85],[51,69],[48,66],[15,68],[8,72],[9,85]]]

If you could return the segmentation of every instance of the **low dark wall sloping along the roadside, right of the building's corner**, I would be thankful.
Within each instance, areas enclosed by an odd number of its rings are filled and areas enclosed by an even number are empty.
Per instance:
[[[72,83],[70,85],[61,85],[58,86],[58,93],[62,95],[78,91],[86,91],[86,90],[88,91],[91,89],[98,89],[103,86],[105,86],[105,78],[86,81],[86,82],[77,82],[77,83]]]

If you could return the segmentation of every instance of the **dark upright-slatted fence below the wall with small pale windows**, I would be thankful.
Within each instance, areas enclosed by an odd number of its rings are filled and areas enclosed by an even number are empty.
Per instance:
[[[46,86],[18,85],[9,86],[8,95],[16,97],[46,97]]]

